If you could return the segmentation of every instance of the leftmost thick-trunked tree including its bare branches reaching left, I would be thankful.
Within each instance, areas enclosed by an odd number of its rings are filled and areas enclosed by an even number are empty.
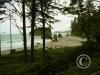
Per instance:
[[[11,1],[11,0],[8,0],[8,2],[9,1]],[[23,39],[22,40],[23,40],[23,44],[24,44],[24,60],[25,60],[25,63],[27,63],[27,37],[26,37],[26,14],[25,14],[25,10],[26,10],[25,9],[25,2],[26,2],[26,0],[16,0],[16,2],[22,4],[22,10],[18,10],[14,4],[9,2],[11,7],[13,7],[13,10],[10,10],[10,11],[15,13],[16,15],[18,15],[23,20],[23,28],[22,28]],[[21,8],[21,6],[19,6],[19,8]],[[13,15],[10,15],[10,16],[14,18]],[[14,20],[14,22],[16,23],[15,26],[20,31],[19,26],[17,26],[17,22],[15,20]]]

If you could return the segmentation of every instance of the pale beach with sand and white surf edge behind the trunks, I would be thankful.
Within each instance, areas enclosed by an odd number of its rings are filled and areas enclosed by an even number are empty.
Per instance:
[[[42,49],[43,45],[42,45],[42,39],[40,39],[38,37],[38,41],[35,42],[35,49]],[[58,41],[51,41],[50,39],[46,39],[46,45],[45,45],[45,49],[56,49],[56,48],[64,48],[64,47],[73,47],[73,46],[81,46],[82,42],[86,41],[86,39],[82,39],[80,37],[76,37],[76,36],[64,36],[62,38],[58,38]],[[30,50],[30,40],[28,40],[28,50]],[[13,44],[14,45],[14,44]],[[16,46],[16,43],[15,43]],[[16,49],[16,51],[21,51],[23,50],[23,45],[22,42],[18,43],[17,42],[17,47],[13,46],[13,49]],[[2,53],[9,53],[10,49],[6,49],[2,50]]]

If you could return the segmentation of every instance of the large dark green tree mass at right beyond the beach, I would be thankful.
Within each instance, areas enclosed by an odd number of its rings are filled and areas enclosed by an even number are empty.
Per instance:
[[[72,34],[86,37],[88,40],[99,41],[100,11],[94,7],[92,0],[83,3],[77,2],[78,17],[72,22]]]

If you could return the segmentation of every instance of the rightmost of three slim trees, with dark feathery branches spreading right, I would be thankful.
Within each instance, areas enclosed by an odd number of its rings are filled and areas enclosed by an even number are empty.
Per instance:
[[[53,0],[40,0],[40,6],[41,6],[41,23],[43,25],[42,34],[43,34],[43,57],[45,57],[45,39],[46,39],[46,28],[45,25],[49,25],[51,27],[51,23],[54,23],[58,20],[55,20],[54,17],[52,17],[49,14],[54,14],[54,11],[51,12],[51,10],[60,10],[59,4],[58,7],[53,4]],[[52,21],[53,20],[53,21]]]

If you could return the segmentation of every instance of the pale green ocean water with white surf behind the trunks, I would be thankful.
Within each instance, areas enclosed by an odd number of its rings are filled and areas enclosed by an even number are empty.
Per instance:
[[[50,42],[50,39],[46,39],[46,42]],[[42,43],[41,36],[35,36],[35,45],[37,43]],[[31,36],[27,34],[27,47],[31,46]],[[23,48],[23,36],[20,34],[12,34],[12,48]],[[10,49],[10,35],[3,34],[1,35],[1,50]]]

